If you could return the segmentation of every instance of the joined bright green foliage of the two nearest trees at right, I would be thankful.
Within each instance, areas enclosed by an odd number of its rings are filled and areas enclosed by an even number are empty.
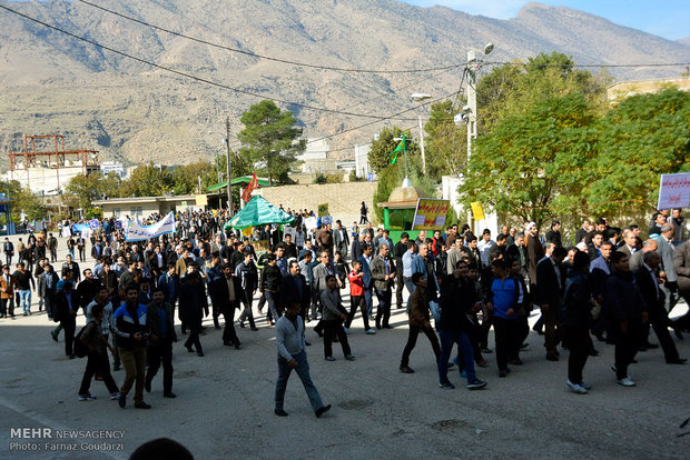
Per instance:
[[[464,204],[541,224],[559,213],[614,216],[622,200],[653,202],[659,174],[690,153],[690,94],[637,96],[602,113],[581,93],[533,102],[482,136],[460,188]]]

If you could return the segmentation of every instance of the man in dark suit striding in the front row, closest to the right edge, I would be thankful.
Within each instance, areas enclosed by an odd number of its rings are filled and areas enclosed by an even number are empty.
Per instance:
[[[634,273],[635,282],[642,293],[642,298],[647,303],[647,312],[649,314],[649,322],[654,328],[654,333],[661,343],[663,350],[663,357],[669,364],[683,364],[687,360],[681,359],[678,356],[678,350],[669,333],[669,314],[663,308],[664,294],[659,287],[659,279],[657,278],[657,271],[661,263],[661,258],[655,251],[645,252],[643,256],[642,267]],[[644,324],[644,332],[642,334],[642,343],[647,342],[649,334],[649,324]]]

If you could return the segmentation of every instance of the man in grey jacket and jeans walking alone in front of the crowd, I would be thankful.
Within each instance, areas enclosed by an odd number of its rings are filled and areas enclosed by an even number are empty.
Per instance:
[[[299,317],[299,302],[290,304],[276,322],[276,346],[278,348],[278,380],[276,381],[275,414],[287,417],[283,408],[287,379],[293,369],[297,372],[304,386],[312,409],[316,417],[323,416],[331,409],[331,404],[324,406],[318,390],[312,382],[309,376],[309,363],[307,362],[306,343],[304,339],[304,321]]]

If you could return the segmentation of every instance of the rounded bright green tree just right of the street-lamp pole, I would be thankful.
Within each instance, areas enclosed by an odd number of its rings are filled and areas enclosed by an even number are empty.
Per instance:
[[[551,207],[582,203],[597,154],[594,120],[583,96],[568,94],[500,121],[475,143],[459,190],[463,204],[481,201],[541,226]]]

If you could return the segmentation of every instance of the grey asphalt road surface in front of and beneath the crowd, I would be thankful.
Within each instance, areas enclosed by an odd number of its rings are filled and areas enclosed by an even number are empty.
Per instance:
[[[673,313],[684,309],[678,306]],[[593,389],[578,396],[564,386],[568,352],[559,362],[546,361],[543,337],[531,333],[524,366],[512,367],[507,378],[499,379],[495,357],[487,354],[490,366],[479,368],[486,389],[469,391],[451,371],[456,389],[441,390],[425,337],[411,357],[416,373],[398,372],[407,326],[404,310],[394,310],[395,328],[376,336],[365,336],[355,319],[348,336],[353,362],[343,359],[337,343],[337,361],[324,361],[323,341],[308,327],[312,377],[333,409],[316,419],[293,374],[285,399],[289,417],[278,418],[274,329],[263,322],[258,332],[238,329],[243,348],[235,350],[223,347],[221,331],[209,319],[205,324],[204,358],[175,346],[178,398],[162,398],[160,371],[145,394],[152,409],[144,411],[132,408],[132,393],[120,409],[101,382],[91,386],[98,400],[78,401],[86,360],[65,357],[62,336],[60,343],[50,339],[53,323],[45,313],[0,320],[0,458],[120,459],[158,437],[180,441],[198,459],[679,459],[690,452],[690,434],[679,437],[690,432],[679,428],[690,417],[690,366],[666,364],[659,349],[638,354],[630,370],[638,386],[629,389],[609,369],[613,347],[597,343],[601,354],[584,370]],[[493,348],[493,333],[490,341]],[[677,346],[690,358],[690,339]],[[124,371],[114,376],[119,383]],[[49,428],[52,438],[18,438],[19,428]],[[67,430],[111,430],[101,436],[116,438],[56,439]],[[77,451],[50,450],[68,448]],[[96,448],[108,450],[88,450]]]

